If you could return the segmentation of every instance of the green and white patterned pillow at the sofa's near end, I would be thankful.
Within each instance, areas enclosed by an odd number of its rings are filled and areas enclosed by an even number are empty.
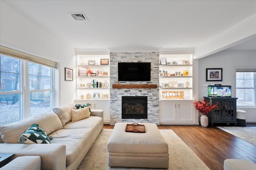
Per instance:
[[[46,133],[38,127],[38,124],[32,124],[18,140],[19,143],[51,143]]]

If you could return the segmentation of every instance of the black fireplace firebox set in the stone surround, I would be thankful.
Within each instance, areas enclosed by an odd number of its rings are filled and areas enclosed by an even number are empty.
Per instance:
[[[148,97],[122,96],[122,119],[148,119]]]

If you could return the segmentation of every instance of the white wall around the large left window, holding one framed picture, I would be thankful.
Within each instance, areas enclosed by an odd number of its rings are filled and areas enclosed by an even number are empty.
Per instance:
[[[75,50],[46,28],[30,20],[3,1],[0,1],[0,44],[25,53],[57,61],[59,83],[55,87],[59,101],[54,106],[74,102]],[[73,81],[64,81],[64,68],[74,69]]]

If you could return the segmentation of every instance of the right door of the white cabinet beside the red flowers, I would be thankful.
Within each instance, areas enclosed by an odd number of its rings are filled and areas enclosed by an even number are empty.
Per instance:
[[[177,102],[178,104],[178,121],[194,121],[195,106],[192,102]]]

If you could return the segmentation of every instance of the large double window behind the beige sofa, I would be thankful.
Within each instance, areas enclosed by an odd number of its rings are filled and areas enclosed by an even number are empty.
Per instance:
[[[54,92],[54,68],[26,61],[14,53],[4,55],[4,52],[1,46],[0,125],[50,111]]]

